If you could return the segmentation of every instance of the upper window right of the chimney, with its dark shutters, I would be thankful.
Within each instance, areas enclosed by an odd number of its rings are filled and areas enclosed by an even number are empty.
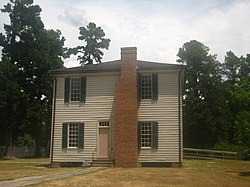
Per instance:
[[[158,100],[158,75],[138,74],[138,99]]]

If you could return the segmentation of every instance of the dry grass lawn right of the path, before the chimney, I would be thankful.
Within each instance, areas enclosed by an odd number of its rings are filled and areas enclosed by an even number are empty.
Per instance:
[[[183,168],[109,168],[36,185],[44,186],[250,186],[250,162],[185,160]]]

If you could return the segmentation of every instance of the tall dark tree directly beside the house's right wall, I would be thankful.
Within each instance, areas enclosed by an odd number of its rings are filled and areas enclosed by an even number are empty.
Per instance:
[[[209,48],[192,40],[177,54],[187,65],[184,93],[184,144],[212,147],[228,138],[229,110],[220,76],[220,64]]]

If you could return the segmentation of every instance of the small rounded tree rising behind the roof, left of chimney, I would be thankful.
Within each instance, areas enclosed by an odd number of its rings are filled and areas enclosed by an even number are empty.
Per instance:
[[[96,27],[95,23],[90,22],[87,27],[80,27],[79,40],[83,40],[85,45],[69,49],[69,54],[78,54],[80,64],[93,64],[93,61],[101,63],[103,52],[101,49],[108,49],[110,39],[104,38],[105,33],[101,27]]]

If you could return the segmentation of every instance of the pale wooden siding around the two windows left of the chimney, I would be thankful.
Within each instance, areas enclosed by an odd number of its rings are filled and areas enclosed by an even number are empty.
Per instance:
[[[76,76],[76,75],[74,75]],[[64,77],[57,77],[56,117],[54,134],[54,162],[83,162],[96,156],[98,121],[110,120],[114,124],[112,109],[114,91],[119,74],[79,75],[87,77],[86,102],[64,103]],[[69,76],[70,77],[70,76]],[[62,123],[83,122],[84,149],[62,150]]]

